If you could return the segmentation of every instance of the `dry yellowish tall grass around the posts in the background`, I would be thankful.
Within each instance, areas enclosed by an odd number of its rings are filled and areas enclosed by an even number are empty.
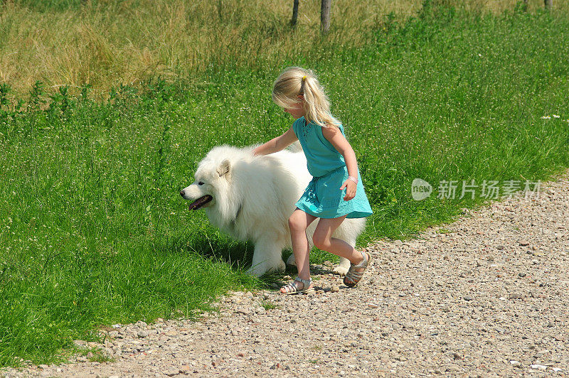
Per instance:
[[[435,0],[479,13],[514,9],[516,0]],[[529,1],[530,11],[543,1]],[[555,1],[558,11],[567,4]],[[319,33],[319,1],[5,0],[0,1],[0,80],[26,93],[36,80],[49,92],[90,84],[95,95],[161,75],[195,77],[237,65],[270,70],[302,56],[374,42],[384,18],[416,16],[422,0],[334,1],[331,30]]]

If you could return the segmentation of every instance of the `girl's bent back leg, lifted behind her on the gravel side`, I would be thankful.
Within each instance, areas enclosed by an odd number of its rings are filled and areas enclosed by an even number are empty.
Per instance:
[[[344,222],[344,219],[346,219],[346,215],[330,219],[320,218],[312,241],[314,242],[314,247],[349,259],[352,264],[357,265],[363,261],[361,252],[356,251],[355,248],[344,242],[344,240],[332,237],[332,234],[341,225],[341,222]]]

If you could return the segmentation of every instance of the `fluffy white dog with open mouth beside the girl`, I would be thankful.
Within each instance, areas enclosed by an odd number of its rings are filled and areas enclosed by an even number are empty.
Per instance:
[[[180,194],[191,200],[190,210],[203,208],[210,222],[240,241],[255,244],[249,274],[284,270],[282,249],[291,248],[288,219],[294,204],[312,179],[299,142],[264,156],[252,156],[256,146],[218,146],[198,164],[195,180]],[[318,220],[307,229],[309,247]],[[333,236],[356,245],[365,218],[346,219]],[[287,264],[294,265],[294,254]],[[341,258],[334,269],[344,275],[350,261]]]

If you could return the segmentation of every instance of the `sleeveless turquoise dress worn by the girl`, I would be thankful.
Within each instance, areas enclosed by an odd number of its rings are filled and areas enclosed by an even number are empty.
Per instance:
[[[339,126],[342,135],[344,126]],[[313,176],[296,206],[308,214],[319,218],[363,218],[373,214],[358,169],[356,197],[344,200],[346,188],[340,190],[348,178],[348,168],[344,156],[322,134],[321,126],[307,124],[300,117],[292,124],[294,134],[307,156],[307,167]]]

